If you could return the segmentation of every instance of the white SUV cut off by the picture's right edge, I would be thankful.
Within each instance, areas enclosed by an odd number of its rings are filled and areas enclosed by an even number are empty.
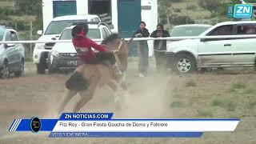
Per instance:
[[[221,22],[200,36],[256,34],[256,21]],[[167,45],[166,57],[174,71],[200,68],[255,66],[256,38],[185,39]]]

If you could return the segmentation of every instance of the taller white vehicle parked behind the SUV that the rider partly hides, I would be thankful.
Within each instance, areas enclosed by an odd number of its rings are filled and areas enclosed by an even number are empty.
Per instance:
[[[46,31],[38,30],[38,34],[42,35],[38,40],[47,41],[58,38],[67,26],[72,26],[78,22],[90,22],[99,23],[100,18],[97,15],[67,15],[54,18],[52,22],[47,26]],[[46,58],[48,57],[49,51],[54,46],[54,42],[50,43],[37,43],[34,46],[33,60],[37,66],[38,74],[45,74],[47,67]]]

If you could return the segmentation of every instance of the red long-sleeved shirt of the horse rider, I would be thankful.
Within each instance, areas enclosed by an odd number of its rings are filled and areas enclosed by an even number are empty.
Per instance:
[[[92,50],[92,48],[100,52],[106,51],[104,46],[98,45],[90,38],[73,38],[72,42],[75,50],[78,52],[79,58],[81,58],[82,61],[90,61],[95,58],[94,50]]]

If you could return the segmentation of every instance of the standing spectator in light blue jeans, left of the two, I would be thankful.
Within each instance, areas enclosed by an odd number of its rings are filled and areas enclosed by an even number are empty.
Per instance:
[[[150,33],[146,29],[146,23],[140,22],[140,27],[134,33],[134,37],[147,38],[149,36]],[[149,46],[146,41],[138,42],[138,61],[139,77],[146,77],[149,69]]]

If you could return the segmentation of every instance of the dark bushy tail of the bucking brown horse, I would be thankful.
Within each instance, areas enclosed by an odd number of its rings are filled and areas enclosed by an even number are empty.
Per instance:
[[[71,77],[65,83],[68,90],[86,90],[90,83],[77,71],[71,75]]]

